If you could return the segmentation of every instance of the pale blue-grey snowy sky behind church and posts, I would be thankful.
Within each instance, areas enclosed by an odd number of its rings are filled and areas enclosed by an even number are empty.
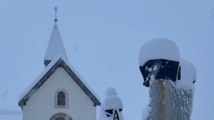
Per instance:
[[[213,0],[0,0],[0,110],[20,110],[18,96],[44,69],[56,4],[70,64],[101,99],[114,86],[126,120],[141,120],[148,104],[138,52],[157,37],[196,66],[192,120],[213,118]]]

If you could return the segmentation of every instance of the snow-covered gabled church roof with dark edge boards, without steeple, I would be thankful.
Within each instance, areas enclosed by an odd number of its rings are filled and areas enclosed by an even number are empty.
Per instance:
[[[83,79],[80,79],[80,75],[75,69],[68,64],[63,57],[54,58],[45,70],[33,81],[33,83],[21,94],[19,97],[19,106],[22,107],[26,104],[27,100],[44,84],[44,82],[57,70],[58,67],[64,68],[64,70],[70,75],[70,77],[77,83],[77,85],[84,91],[84,93],[93,101],[94,105],[101,105],[98,96],[93,92],[89,85]]]

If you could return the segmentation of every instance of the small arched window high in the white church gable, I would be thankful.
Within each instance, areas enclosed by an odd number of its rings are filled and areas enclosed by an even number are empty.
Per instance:
[[[55,94],[55,107],[67,107],[68,106],[68,94],[65,89],[57,90]]]

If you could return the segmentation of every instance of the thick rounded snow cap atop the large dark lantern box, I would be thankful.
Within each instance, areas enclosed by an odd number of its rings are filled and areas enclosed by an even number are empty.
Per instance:
[[[139,51],[139,65],[148,60],[167,59],[179,61],[180,54],[177,45],[165,38],[155,38],[145,43]]]

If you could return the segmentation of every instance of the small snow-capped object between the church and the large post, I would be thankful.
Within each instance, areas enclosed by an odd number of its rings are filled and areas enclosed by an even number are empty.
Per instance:
[[[115,88],[106,90],[106,98],[101,104],[99,120],[124,120],[122,115],[123,103],[118,97]]]

